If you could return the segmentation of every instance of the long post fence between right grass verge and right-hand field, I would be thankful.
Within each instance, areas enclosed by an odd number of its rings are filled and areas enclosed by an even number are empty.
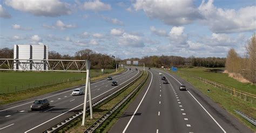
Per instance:
[[[180,73],[181,75],[185,75],[184,73],[182,73],[180,71],[178,71],[178,73]],[[217,82],[213,82],[212,80],[209,80],[206,78],[202,78],[202,77],[198,77],[198,76],[194,76],[194,75],[185,75],[185,76],[196,78],[196,79],[200,80],[201,82],[204,82],[206,84],[209,84],[216,88],[219,88],[220,90],[223,90],[231,95],[234,95],[235,97],[238,97],[245,101],[251,102],[251,104],[256,104],[256,95],[255,94],[240,91],[237,88],[232,88],[232,87],[229,87],[229,86],[217,83]]]

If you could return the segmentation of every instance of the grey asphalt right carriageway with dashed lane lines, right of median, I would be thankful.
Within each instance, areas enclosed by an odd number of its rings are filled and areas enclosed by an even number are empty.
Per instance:
[[[163,84],[159,72],[169,84]],[[185,80],[149,70],[143,90],[109,132],[253,132]],[[185,84],[187,91],[179,91]]]

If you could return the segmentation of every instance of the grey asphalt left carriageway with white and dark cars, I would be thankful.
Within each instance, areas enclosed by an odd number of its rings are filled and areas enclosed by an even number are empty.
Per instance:
[[[118,86],[111,86],[111,80],[99,80],[91,84],[92,103],[131,82],[140,71],[124,73],[113,77]],[[53,125],[64,121],[83,109],[84,95],[72,96],[74,88],[85,88],[84,85],[66,88],[65,90],[40,95],[0,107],[0,132],[42,132]],[[40,111],[30,111],[30,105],[36,99],[47,98],[50,107]],[[88,100],[88,99],[87,99]],[[88,102],[88,101],[87,101]],[[89,103],[89,102],[88,102]],[[89,104],[87,104],[89,106]]]

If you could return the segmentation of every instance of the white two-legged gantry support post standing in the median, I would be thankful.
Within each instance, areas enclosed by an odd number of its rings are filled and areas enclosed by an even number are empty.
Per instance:
[[[90,83],[90,67],[91,62],[89,60],[85,61],[86,65],[86,84],[85,84],[85,94],[84,94],[84,108],[83,108],[83,120],[82,125],[85,123],[85,114],[86,114],[86,100],[87,100],[87,91],[89,91],[89,104],[90,104],[90,115],[92,119],[92,99],[91,99],[91,83]]]

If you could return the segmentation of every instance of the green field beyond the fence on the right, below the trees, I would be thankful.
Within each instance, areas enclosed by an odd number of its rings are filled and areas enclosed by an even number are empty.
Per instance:
[[[241,83],[237,80],[228,77],[228,73],[214,73],[206,72],[204,70],[212,68],[180,68],[178,71],[185,73],[186,75],[194,75],[202,78],[210,79],[214,82],[234,87],[240,91],[248,92],[251,94],[256,94],[256,86],[250,83]]]

